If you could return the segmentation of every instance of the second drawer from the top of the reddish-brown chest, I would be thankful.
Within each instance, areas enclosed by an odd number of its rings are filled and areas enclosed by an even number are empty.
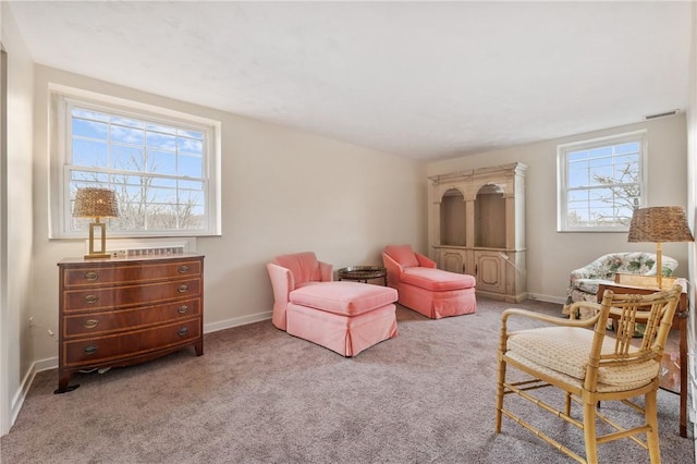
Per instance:
[[[62,294],[63,313],[112,310],[125,306],[157,304],[167,300],[198,296],[200,291],[200,279],[68,290]]]

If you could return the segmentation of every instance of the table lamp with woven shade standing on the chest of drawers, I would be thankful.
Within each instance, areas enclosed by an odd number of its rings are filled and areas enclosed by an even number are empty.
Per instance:
[[[110,258],[111,255],[107,253],[107,224],[99,222],[99,219],[119,217],[115,192],[97,187],[78,188],[75,193],[73,217],[95,218],[95,222],[89,223],[89,253],[85,255],[85,259]],[[97,251],[95,251],[95,229],[99,229],[101,235],[101,247]]]

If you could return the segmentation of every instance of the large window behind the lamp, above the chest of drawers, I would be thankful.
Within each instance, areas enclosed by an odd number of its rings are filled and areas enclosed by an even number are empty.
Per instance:
[[[212,126],[80,101],[65,100],[64,108],[64,236],[87,230],[87,220],[71,215],[82,187],[117,193],[120,216],[109,220],[112,234],[215,233]]]

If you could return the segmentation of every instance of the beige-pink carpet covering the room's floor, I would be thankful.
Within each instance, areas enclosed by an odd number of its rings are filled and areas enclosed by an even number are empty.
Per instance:
[[[65,394],[52,393],[56,370],[39,373],[0,441],[0,461],[573,462],[505,418],[502,434],[493,432],[501,312],[560,315],[560,305],[478,303],[474,315],[441,320],[400,307],[398,338],[354,358],[262,321],[207,334],[201,357],[186,349],[77,375],[81,388]],[[579,430],[517,403],[530,422],[583,453]],[[603,407],[634,420],[625,406]],[[663,463],[695,462],[693,438],[677,434],[676,394],[659,392],[659,420]],[[622,440],[601,445],[600,462],[644,463],[648,453]]]

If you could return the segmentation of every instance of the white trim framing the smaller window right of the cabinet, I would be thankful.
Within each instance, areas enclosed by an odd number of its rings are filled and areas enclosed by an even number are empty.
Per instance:
[[[639,179],[641,182],[640,206],[647,205],[648,190],[648,141],[647,131],[625,132],[616,135],[591,138],[587,141],[572,142],[557,147],[557,231],[558,232],[622,232],[626,233],[627,227],[570,227],[566,224],[566,167],[570,151],[578,149],[592,149],[608,145],[617,145],[624,142],[639,141],[641,145],[641,166],[639,166]]]

